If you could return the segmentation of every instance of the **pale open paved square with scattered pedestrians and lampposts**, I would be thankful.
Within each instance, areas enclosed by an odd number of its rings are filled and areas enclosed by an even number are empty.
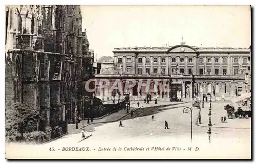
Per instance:
[[[170,102],[169,102],[170,103]],[[174,103],[174,102],[172,102]],[[204,104],[201,110],[202,124],[196,125],[199,109],[193,109],[193,142],[192,145],[197,147],[208,147],[224,151],[230,148],[241,148],[246,152],[250,152],[251,145],[251,120],[250,119],[233,119],[227,123],[221,123],[220,115],[225,114],[224,106],[228,102],[212,102],[211,116],[211,143],[208,141],[208,109],[209,103]],[[152,104],[153,105],[153,104]],[[154,104],[155,105],[155,104]],[[154,113],[154,121],[152,115],[142,116],[129,120],[123,120],[122,127],[119,127],[119,122],[97,124],[94,128],[90,125],[85,127],[87,139],[81,140],[81,134],[68,134],[62,138],[56,139],[44,146],[59,147],[69,145],[74,146],[93,146],[97,145],[113,145],[114,143],[122,143],[122,145],[131,146],[136,144],[146,144],[150,142],[153,145],[190,145],[190,115],[183,113],[185,107],[191,107],[191,102],[184,104],[174,104],[173,106],[164,107],[160,112]],[[168,122],[168,128],[164,129],[164,121]],[[242,124],[241,124],[242,123]],[[241,126],[243,125],[243,127]],[[221,149],[221,150],[219,150]]]

